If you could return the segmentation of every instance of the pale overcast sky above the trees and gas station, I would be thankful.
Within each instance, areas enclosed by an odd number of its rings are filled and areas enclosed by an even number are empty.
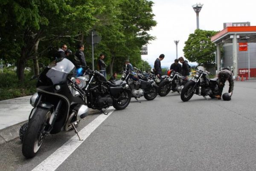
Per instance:
[[[196,14],[192,8],[196,3],[204,4],[199,13],[199,28],[202,30],[221,31],[224,22],[250,22],[251,26],[256,25],[256,0],[152,1],[157,26],[149,33],[157,39],[148,45],[148,55],[142,56],[149,64],[154,64],[155,59],[163,53],[165,58],[161,65],[169,67],[176,59],[174,40],[180,40],[178,57],[183,56],[184,42],[196,29]]]

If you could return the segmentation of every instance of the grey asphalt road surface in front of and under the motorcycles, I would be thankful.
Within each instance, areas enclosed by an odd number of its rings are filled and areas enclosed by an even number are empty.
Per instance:
[[[224,88],[227,92],[228,86]],[[134,99],[114,111],[56,169],[88,170],[255,170],[256,80],[235,82],[231,101],[177,93],[153,101]],[[79,130],[99,113],[87,116]],[[0,146],[0,170],[32,170],[73,137],[50,135],[38,155],[26,160],[18,139]]]

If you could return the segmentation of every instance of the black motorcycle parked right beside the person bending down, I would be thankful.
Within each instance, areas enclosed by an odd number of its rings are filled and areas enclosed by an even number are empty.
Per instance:
[[[209,79],[207,71],[197,70],[192,80],[188,81],[181,90],[182,101],[189,101],[194,94],[202,95],[205,99],[207,95],[214,98],[218,95],[218,78]]]

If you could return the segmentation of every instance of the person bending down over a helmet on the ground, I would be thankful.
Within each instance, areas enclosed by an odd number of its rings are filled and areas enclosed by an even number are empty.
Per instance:
[[[234,90],[234,80],[233,75],[231,71],[228,68],[223,68],[218,73],[218,95],[215,96],[215,98],[221,99],[221,94],[223,91],[223,87],[225,86],[226,80],[229,82],[229,89],[228,89],[228,95],[231,96]]]

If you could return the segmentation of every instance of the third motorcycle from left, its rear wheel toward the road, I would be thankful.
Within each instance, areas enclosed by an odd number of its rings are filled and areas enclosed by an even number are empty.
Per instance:
[[[136,72],[126,69],[123,71],[121,80],[126,81],[131,89],[132,97],[138,102],[138,98],[144,96],[147,100],[153,100],[157,97],[158,86],[154,80],[142,80],[139,78]]]

